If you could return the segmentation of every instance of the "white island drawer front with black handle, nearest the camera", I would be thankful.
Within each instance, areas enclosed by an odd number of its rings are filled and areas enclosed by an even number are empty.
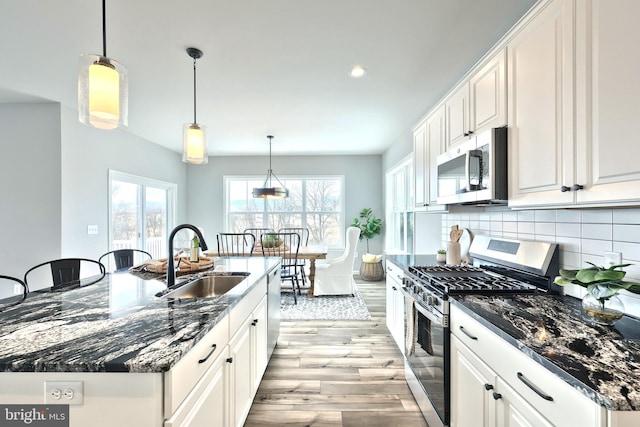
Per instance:
[[[229,342],[229,316],[204,336],[164,374],[165,418],[173,414]]]

